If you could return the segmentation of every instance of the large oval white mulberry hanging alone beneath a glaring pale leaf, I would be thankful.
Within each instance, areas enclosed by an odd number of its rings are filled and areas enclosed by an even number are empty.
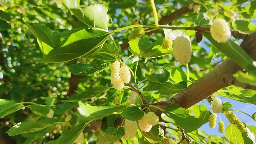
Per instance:
[[[177,37],[172,45],[175,60],[180,64],[187,65],[191,59],[191,42],[184,36]]]

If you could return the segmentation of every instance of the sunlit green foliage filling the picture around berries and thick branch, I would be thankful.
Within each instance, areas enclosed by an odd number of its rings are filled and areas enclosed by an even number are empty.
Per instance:
[[[209,31],[218,17],[231,30],[255,32],[256,1],[1,0],[0,5],[0,144],[73,144],[80,134],[89,144],[255,143],[256,127],[239,119],[246,131],[232,121],[225,124],[226,137],[200,130],[211,114],[205,103],[184,109],[156,102],[170,99],[227,58],[243,69],[233,75],[238,82],[256,86],[255,61],[241,41],[231,36],[218,43]],[[176,9],[186,12],[177,15]],[[191,42],[187,65],[175,61],[172,48],[162,47],[166,38],[174,42],[180,36]],[[131,71],[121,90],[111,86],[113,61]],[[216,95],[256,105],[254,90],[228,86]],[[222,106],[228,115],[233,105]],[[138,121],[150,111],[161,123],[127,139],[124,120]],[[256,112],[249,116],[256,122]]]

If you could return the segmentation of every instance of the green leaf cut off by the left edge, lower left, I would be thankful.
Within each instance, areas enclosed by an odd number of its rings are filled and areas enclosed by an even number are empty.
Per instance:
[[[0,99],[0,118],[3,118],[11,113],[17,112],[23,107],[23,104],[19,104],[14,100]]]

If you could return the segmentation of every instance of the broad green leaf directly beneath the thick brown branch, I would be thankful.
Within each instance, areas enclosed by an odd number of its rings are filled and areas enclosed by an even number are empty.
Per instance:
[[[171,122],[175,126],[184,128],[185,131],[194,131],[208,122],[209,115],[205,105],[195,105],[192,108],[193,116],[178,104],[170,104],[161,115],[162,119]],[[188,123],[189,122],[189,123]],[[191,125],[193,123],[193,125]]]

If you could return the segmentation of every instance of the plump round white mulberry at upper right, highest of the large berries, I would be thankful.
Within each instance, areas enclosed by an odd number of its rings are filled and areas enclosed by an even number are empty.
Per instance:
[[[211,36],[218,43],[225,43],[231,36],[229,24],[221,18],[217,18],[213,21],[210,27]]]

